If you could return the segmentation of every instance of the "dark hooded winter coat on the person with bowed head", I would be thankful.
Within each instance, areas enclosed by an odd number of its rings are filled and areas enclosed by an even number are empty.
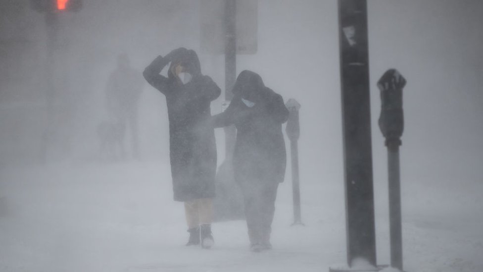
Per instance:
[[[230,106],[213,116],[213,121],[215,127],[235,124],[237,128],[235,180],[283,182],[287,155],[282,123],[287,121],[289,111],[282,96],[265,87],[262,78],[248,70],[238,76],[233,93]],[[242,98],[255,105],[247,107]]]

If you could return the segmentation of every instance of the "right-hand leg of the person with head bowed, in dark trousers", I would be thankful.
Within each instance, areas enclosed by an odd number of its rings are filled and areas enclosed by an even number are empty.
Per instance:
[[[272,221],[275,214],[275,200],[277,199],[278,183],[270,182],[264,184],[261,190],[261,244],[263,249],[271,249],[270,234],[272,232]]]

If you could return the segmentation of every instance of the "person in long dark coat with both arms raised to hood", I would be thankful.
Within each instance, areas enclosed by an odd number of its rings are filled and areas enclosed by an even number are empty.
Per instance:
[[[168,77],[160,75],[170,62]],[[216,172],[210,104],[221,90],[209,76],[201,74],[196,53],[185,48],[156,57],[143,75],[166,96],[174,200],[185,203],[190,232],[187,245],[201,243],[210,248]]]

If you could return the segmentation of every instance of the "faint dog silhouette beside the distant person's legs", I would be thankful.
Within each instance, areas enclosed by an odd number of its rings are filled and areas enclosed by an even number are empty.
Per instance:
[[[125,130],[126,126],[121,122],[103,121],[97,125],[101,160],[117,160],[125,157]]]

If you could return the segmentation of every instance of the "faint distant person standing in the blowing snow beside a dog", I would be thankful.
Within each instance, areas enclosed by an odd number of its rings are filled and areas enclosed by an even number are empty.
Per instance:
[[[139,71],[131,67],[127,54],[117,57],[117,68],[107,82],[106,108],[111,122],[121,127],[122,156],[124,152],[124,136],[131,132],[131,152],[139,158],[138,138],[138,102],[143,91],[144,80]]]

